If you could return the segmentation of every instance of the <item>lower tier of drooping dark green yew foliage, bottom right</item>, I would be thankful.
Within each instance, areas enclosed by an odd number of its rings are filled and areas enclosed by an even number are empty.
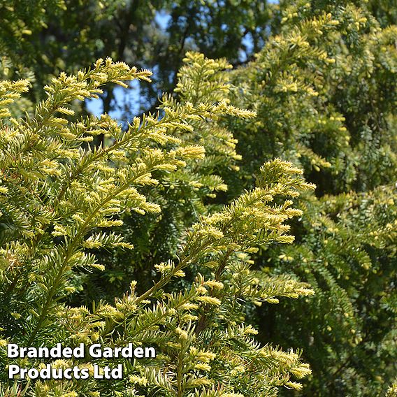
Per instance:
[[[306,396],[382,395],[396,374],[395,197],[382,187],[312,199],[301,241],[266,254],[266,273],[290,269],[316,291],[312,305],[285,302],[288,315],[262,313],[271,324],[262,338],[303,347],[313,370]]]

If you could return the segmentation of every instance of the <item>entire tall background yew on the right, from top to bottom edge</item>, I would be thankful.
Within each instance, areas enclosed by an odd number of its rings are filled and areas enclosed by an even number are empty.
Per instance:
[[[286,304],[280,316],[264,306],[258,320],[262,340],[304,344],[306,396],[380,396],[397,372],[397,28],[372,9],[282,3],[279,34],[232,72],[237,103],[257,111],[245,126],[229,124],[244,159],[240,185],[278,156],[303,167],[320,197],[303,197],[291,249],[256,259],[316,291],[311,305]]]

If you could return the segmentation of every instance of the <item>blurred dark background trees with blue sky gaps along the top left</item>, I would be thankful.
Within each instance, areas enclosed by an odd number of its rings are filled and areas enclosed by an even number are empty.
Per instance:
[[[36,81],[30,91],[35,100],[50,76],[99,57],[155,71],[152,85],[134,85],[139,94],[121,109],[128,117],[154,110],[158,97],[172,92],[187,50],[241,62],[261,47],[269,19],[266,1],[247,0],[24,0],[0,7],[8,21],[0,31],[3,59],[10,60],[8,77]],[[101,98],[104,113],[117,108],[112,86]]]

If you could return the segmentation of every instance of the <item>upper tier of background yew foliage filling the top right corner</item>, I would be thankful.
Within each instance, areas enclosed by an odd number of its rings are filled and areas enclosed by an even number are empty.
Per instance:
[[[235,72],[242,106],[258,113],[236,128],[243,164],[252,173],[282,155],[317,195],[393,182],[397,28],[382,29],[365,4],[318,3],[287,2],[280,34]]]

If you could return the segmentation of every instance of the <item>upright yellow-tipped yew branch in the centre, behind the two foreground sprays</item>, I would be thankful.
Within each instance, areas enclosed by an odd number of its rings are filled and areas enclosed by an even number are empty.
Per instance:
[[[241,119],[254,116],[253,112],[230,106],[229,73],[223,73],[229,68],[231,66],[224,59],[215,61],[198,53],[187,53],[185,66],[178,73],[175,88],[178,97],[164,95],[161,109],[180,111],[187,104],[201,108],[201,117],[189,122],[192,131],[174,127],[168,129],[168,133],[180,139],[182,145],[200,145],[205,149],[205,157],[186,159],[184,168],[165,175],[156,187],[145,189],[145,196],[161,205],[161,213],[146,217],[133,213],[123,216],[124,224],[119,231],[125,240],[133,242],[136,250],[98,252],[101,261],[108,264],[106,271],[87,277],[79,298],[92,301],[98,296],[104,299],[110,296],[112,299],[115,289],[122,294],[131,278],[139,282],[138,288],[150,287],[154,264],[171,259],[186,227],[213,210],[215,205],[209,205],[210,201],[227,191],[224,178],[238,171],[241,157],[236,153],[236,139],[221,124],[220,116],[237,115]],[[209,120],[203,116],[212,103],[217,103],[219,114],[212,114]]]

